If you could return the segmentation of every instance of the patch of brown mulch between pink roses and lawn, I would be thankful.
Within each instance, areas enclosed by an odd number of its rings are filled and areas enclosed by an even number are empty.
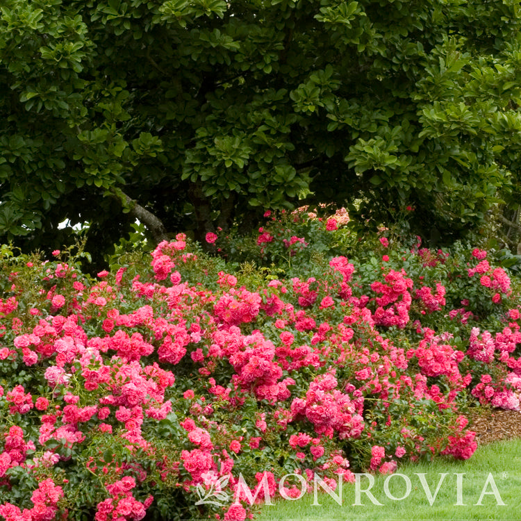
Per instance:
[[[469,427],[476,431],[478,445],[521,438],[521,412],[481,409],[469,415]]]

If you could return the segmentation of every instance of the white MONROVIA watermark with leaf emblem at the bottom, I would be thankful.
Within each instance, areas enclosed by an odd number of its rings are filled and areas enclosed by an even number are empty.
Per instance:
[[[448,472],[440,472],[438,474],[439,477],[438,483],[436,483],[436,487],[431,488],[426,478],[427,474],[424,472],[415,472],[415,476],[417,477],[419,484],[421,485],[422,490],[430,506],[432,506],[436,501],[436,497],[438,497],[438,493],[443,483],[445,483],[445,485],[447,486],[447,482],[450,481],[446,481],[448,475]],[[451,488],[454,489],[454,499],[456,501],[454,503],[454,506],[467,506],[467,504],[463,502],[463,477],[465,475],[466,474],[464,472],[452,474],[452,476],[456,480],[456,486],[454,487],[450,484],[449,486],[451,486]],[[383,503],[381,503],[372,492],[375,483],[374,476],[372,474],[361,472],[355,473],[354,477],[354,503],[352,503],[352,506],[364,506],[364,503],[362,502],[362,495],[365,495],[364,499],[369,500],[370,502],[372,502],[372,504],[377,506],[383,506]],[[322,489],[322,491],[329,495],[329,497],[331,497],[337,504],[342,505],[342,478],[343,476],[342,474],[340,474],[337,486],[335,490],[333,490],[333,488],[331,488],[319,475],[315,474],[315,477],[313,479],[314,499],[312,505],[320,506],[320,503],[318,502],[319,489]],[[367,481],[363,482],[363,478],[366,478]],[[199,495],[199,501],[196,503],[197,505],[215,504],[218,506],[224,506],[229,502],[229,495],[222,492],[222,488],[224,488],[224,486],[226,486],[226,484],[229,481],[228,476],[224,476],[220,479],[217,479],[216,474],[214,474],[213,472],[208,472],[207,474],[204,474],[203,479],[207,490],[205,490],[204,487],[201,485],[197,486],[197,495]],[[288,495],[286,483],[288,483],[290,479],[297,479],[297,481],[299,481],[300,483],[300,493],[298,497],[290,497],[290,495]],[[400,488],[403,490],[402,495],[397,496],[391,492],[391,481],[396,482],[395,487],[397,486],[397,482],[402,481],[402,485],[400,486]],[[353,486],[353,483],[350,483],[350,485]],[[306,482],[306,479],[302,477],[300,474],[286,474],[286,476],[284,476],[279,481],[279,495],[283,499],[287,499],[288,501],[297,501],[298,499],[301,499],[301,497],[303,497],[306,493],[306,490],[308,490],[308,483]],[[403,501],[411,494],[411,490],[411,478],[406,476],[406,474],[390,474],[386,478],[386,480],[383,481],[383,495],[391,501]],[[376,490],[374,490],[374,492],[376,493]],[[474,506],[483,506],[483,498],[487,495],[494,496],[496,505],[506,506],[506,504],[502,500],[501,495],[499,494],[499,490],[491,472],[488,473],[486,479],[483,481],[481,494],[479,495],[477,503],[474,503]],[[242,476],[242,474],[240,474],[237,488],[235,490],[235,498],[233,504],[240,504],[240,497],[244,498],[250,504],[250,506],[253,505],[258,498],[264,499],[265,505],[272,505],[272,495],[270,494],[270,487],[267,481],[267,474],[265,472],[263,473],[263,479],[260,483],[258,483],[256,489],[254,490],[254,493],[251,492],[251,489],[247,485],[244,477]],[[384,501],[383,498],[381,499],[382,501]]]

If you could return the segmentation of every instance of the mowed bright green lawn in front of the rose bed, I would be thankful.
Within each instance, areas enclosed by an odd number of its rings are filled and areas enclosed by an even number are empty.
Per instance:
[[[432,505],[416,473],[425,474]],[[434,499],[440,473],[447,473],[447,476]],[[441,458],[431,463],[403,465],[396,474],[408,477],[411,491],[406,494],[404,477],[375,476],[370,493],[382,506],[373,504],[363,492],[359,495],[358,504],[355,504],[356,484],[344,483],[341,505],[320,492],[317,495],[319,504],[313,505],[311,493],[296,501],[280,499],[272,506],[263,506],[256,521],[521,520],[521,440],[479,447],[467,461]],[[458,478],[455,474],[464,475]],[[361,477],[359,490],[366,490],[368,486],[369,480]],[[406,497],[393,500],[391,496]],[[477,504],[480,496],[481,504]]]

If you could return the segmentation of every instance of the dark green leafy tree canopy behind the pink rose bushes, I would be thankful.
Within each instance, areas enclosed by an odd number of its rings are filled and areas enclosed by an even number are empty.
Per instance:
[[[459,233],[518,189],[520,28],[519,0],[4,0],[0,238],[304,202]]]

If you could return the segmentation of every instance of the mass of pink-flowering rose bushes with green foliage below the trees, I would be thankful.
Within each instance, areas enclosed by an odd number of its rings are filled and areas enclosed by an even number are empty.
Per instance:
[[[2,247],[0,515],[242,520],[315,476],[470,458],[469,408],[520,406],[519,280],[347,222],[267,213],[208,235],[228,258],[179,234],[95,279]]]

